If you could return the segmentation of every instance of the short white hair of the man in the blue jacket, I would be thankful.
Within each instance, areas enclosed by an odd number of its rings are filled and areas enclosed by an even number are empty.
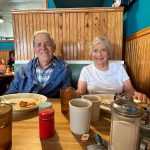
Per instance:
[[[56,49],[56,44],[55,44],[54,39],[50,36],[49,32],[46,31],[46,30],[39,30],[39,31],[34,32],[33,38],[32,38],[32,39],[33,39],[33,47],[34,47],[34,45],[35,45],[35,37],[36,37],[37,35],[39,35],[39,34],[45,34],[45,35],[47,35],[48,38],[49,38],[51,47],[53,48],[53,50]]]

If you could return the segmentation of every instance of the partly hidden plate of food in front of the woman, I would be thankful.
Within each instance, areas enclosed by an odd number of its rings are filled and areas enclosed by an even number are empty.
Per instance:
[[[95,94],[101,98],[100,108],[104,112],[110,113],[110,104],[114,100],[114,94]]]

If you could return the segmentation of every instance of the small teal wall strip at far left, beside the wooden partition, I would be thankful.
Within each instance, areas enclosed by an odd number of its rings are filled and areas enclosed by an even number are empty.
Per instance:
[[[0,50],[14,50],[14,42],[0,42]]]

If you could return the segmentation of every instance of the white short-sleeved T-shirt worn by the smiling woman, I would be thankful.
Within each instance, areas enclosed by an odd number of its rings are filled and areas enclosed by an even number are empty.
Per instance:
[[[111,93],[123,91],[123,82],[129,76],[122,64],[109,63],[107,71],[98,70],[94,64],[83,67],[79,81],[87,83],[87,91],[90,94]]]

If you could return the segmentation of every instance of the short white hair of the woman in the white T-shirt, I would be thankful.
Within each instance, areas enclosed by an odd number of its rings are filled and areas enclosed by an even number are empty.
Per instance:
[[[109,56],[111,56],[112,54],[112,50],[111,50],[111,44],[110,44],[110,41],[108,40],[107,37],[102,37],[102,36],[97,36],[93,39],[92,43],[91,43],[91,46],[90,46],[90,51],[89,51],[89,54],[91,55],[94,47],[97,45],[97,44],[104,44],[106,46],[106,49],[108,51],[108,54]]]

